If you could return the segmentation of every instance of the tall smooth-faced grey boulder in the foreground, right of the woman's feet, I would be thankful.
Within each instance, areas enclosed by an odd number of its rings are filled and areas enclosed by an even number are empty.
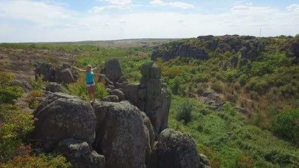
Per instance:
[[[127,101],[93,103],[97,119],[94,150],[103,154],[106,168],[144,168],[146,132],[141,111]]]

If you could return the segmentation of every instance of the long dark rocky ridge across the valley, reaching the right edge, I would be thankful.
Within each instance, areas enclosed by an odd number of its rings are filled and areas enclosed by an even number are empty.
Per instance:
[[[239,35],[224,36],[198,36],[192,39],[163,44],[157,47],[151,55],[151,60],[161,57],[164,61],[175,57],[188,57],[195,59],[209,59],[213,54],[225,52],[239,52],[240,58],[255,60],[260,52],[275,52],[276,48],[271,43],[276,43],[271,37],[254,37]],[[279,50],[287,56],[299,58],[299,40],[289,39],[279,44]],[[235,58],[238,60],[238,58]]]

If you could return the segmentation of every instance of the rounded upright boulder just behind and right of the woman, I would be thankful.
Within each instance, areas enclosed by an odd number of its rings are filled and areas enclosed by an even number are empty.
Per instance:
[[[105,68],[103,72],[107,78],[116,83],[123,76],[123,72],[120,66],[120,61],[116,57],[110,58],[108,61],[105,62]]]

